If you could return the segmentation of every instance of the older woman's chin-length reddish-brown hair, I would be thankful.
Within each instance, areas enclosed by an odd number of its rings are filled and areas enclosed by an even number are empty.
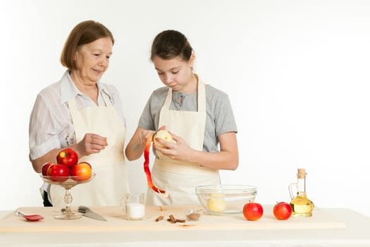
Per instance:
[[[102,37],[110,37],[114,44],[114,38],[103,24],[94,20],[85,20],[70,31],[61,53],[61,64],[70,70],[76,69],[75,54],[83,44],[89,44]]]

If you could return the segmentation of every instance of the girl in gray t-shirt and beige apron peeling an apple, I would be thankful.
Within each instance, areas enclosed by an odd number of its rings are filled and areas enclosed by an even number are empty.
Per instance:
[[[129,160],[138,159],[146,139],[165,128],[176,143],[157,139],[165,147],[155,147],[152,179],[170,196],[148,189],[147,203],[199,204],[196,186],[219,184],[219,169],[238,167],[237,127],[230,101],[193,72],[195,55],[182,33],[166,30],[156,35],[151,59],[165,87],[149,97],[125,154]]]

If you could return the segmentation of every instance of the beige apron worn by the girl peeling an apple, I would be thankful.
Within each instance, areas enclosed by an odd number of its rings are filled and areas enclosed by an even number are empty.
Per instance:
[[[198,80],[198,112],[170,110],[172,89],[159,116],[159,126],[166,126],[170,131],[185,140],[195,150],[203,150],[204,128],[206,126],[206,92],[202,80]],[[202,167],[199,164],[171,159],[161,152],[156,152],[152,169],[152,179],[156,186],[170,193],[169,198],[147,191],[148,205],[197,205],[199,200],[195,187],[200,185],[219,184],[218,170]]]

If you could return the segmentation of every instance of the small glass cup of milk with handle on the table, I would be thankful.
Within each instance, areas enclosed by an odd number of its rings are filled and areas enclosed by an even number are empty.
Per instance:
[[[145,216],[145,193],[126,193],[122,200],[126,219],[137,220]]]

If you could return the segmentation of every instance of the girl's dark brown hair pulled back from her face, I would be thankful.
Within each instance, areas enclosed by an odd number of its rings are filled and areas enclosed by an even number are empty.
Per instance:
[[[180,56],[184,61],[189,61],[192,52],[192,47],[185,35],[176,30],[165,30],[154,38],[150,59],[153,61],[154,56],[159,56],[161,59]]]

